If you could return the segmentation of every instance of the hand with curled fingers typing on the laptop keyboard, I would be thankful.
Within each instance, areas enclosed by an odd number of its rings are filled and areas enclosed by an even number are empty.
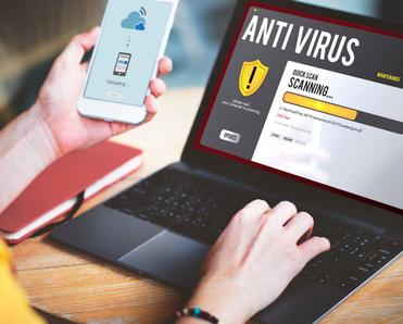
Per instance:
[[[200,307],[224,323],[247,322],[274,302],[308,261],[330,249],[326,238],[298,244],[313,225],[313,217],[290,202],[274,209],[262,200],[251,202],[210,251],[188,307]]]

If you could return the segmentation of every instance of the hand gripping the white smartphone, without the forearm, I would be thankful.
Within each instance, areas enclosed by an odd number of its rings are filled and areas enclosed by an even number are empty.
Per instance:
[[[89,64],[81,63],[81,60],[96,45],[99,33],[99,27],[96,27],[73,38],[54,62],[33,108],[47,126],[50,141],[54,144],[54,154],[59,158],[134,128],[133,125],[89,120],[77,111]],[[162,59],[159,74],[169,73],[172,65],[169,59]],[[156,98],[166,90],[165,83],[156,78],[151,82],[150,90],[151,95],[146,99],[146,122],[150,122],[158,112]]]

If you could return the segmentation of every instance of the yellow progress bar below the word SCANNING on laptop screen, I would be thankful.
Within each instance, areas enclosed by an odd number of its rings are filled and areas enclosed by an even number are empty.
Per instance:
[[[305,96],[292,94],[292,92],[286,92],[282,100],[284,102],[287,102],[287,103],[291,103],[291,104],[300,105],[302,108],[324,112],[329,115],[342,117],[342,119],[350,120],[350,121],[355,121],[356,117],[358,116],[358,112],[353,109],[329,103],[329,102],[317,100],[317,99],[313,99],[313,98],[308,98]]]

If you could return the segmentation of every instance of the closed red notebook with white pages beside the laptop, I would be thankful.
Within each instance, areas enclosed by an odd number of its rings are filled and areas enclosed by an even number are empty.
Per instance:
[[[142,152],[104,141],[62,158],[45,170],[0,214],[5,240],[16,244],[65,215],[85,190],[89,199],[133,173],[142,164]]]

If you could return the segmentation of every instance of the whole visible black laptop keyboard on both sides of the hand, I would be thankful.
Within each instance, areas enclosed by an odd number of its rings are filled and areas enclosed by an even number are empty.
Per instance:
[[[165,169],[105,204],[212,245],[234,214],[254,199],[273,199],[175,169]],[[402,251],[402,245],[362,228],[315,216],[314,235],[331,250],[311,261],[300,279],[351,291]]]

